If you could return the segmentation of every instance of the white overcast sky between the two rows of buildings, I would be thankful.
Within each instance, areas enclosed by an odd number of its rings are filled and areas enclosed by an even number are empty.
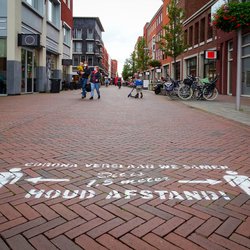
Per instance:
[[[99,17],[104,28],[102,40],[111,59],[118,61],[121,75],[124,62],[134,50],[143,27],[162,0],[74,0],[74,17]]]

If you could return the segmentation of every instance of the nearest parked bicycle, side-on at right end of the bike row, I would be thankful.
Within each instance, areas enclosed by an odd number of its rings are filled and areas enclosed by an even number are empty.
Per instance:
[[[212,101],[218,96],[218,90],[216,88],[216,82],[218,76],[212,81],[208,78],[201,79],[199,77],[187,76],[184,79],[182,85],[178,89],[178,96],[182,100],[189,100],[190,98],[196,98],[197,100]]]

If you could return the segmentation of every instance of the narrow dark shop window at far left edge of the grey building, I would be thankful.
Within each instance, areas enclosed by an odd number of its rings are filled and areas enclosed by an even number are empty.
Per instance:
[[[7,57],[7,42],[6,39],[0,39],[0,95],[6,94],[6,57]]]

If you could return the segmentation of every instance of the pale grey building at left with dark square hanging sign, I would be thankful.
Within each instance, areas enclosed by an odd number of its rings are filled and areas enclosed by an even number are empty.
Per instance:
[[[0,5],[0,93],[50,91],[50,79],[62,79],[61,2],[0,0]],[[70,42],[67,46],[70,56]]]

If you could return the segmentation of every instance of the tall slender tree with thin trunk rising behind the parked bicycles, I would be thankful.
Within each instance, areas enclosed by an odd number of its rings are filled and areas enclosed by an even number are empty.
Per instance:
[[[184,11],[177,7],[177,0],[171,0],[168,5],[169,23],[163,27],[164,35],[159,42],[160,49],[166,56],[174,59],[174,78],[177,77],[176,58],[187,48],[184,43],[183,21]]]

